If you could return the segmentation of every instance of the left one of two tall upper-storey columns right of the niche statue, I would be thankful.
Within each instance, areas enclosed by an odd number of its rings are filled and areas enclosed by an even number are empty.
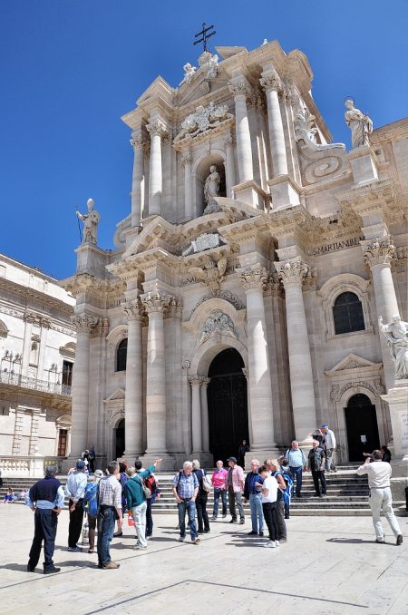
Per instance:
[[[247,97],[251,91],[248,83],[243,80],[231,83],[229,87],[235,102],[239,181],[253,180],[254,169],[247,109]]]

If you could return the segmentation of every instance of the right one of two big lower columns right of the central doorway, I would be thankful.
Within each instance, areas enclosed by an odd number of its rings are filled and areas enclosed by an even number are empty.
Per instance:
[[[277,262],[275,267],[286,293],[287,346],[293,418],[296,440],[302,443],[316,429],[312,359],[302,294],[303,278],[309,267],[301,260]]]

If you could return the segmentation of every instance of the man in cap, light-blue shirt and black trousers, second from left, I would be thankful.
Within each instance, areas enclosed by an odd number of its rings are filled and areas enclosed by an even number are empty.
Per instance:
[[[68,527],[68,551],[82,551],[77,542],[83,529],[83,496],[88,476],[85,474],[85,462],[78,459],[76,472],[68,476],[65,485],[65,493],[70,498],[70,524]]]

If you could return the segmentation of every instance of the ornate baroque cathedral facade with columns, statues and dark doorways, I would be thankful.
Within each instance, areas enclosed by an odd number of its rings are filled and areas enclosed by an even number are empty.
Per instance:
[[[408,316],[408,120],[373,131],[348,100],[346,151],[305,54],[216,51],[122,117],[131,213],[113,251],[88,220],[63,282],[77,300],[72,455],[94,444],[174,469],[247,439],[263,459],[327,423],[337,459],[359,460],[393,441],[378,317]]]

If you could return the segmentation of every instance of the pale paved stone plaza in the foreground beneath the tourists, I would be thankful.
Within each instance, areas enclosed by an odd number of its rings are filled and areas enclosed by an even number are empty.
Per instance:
[[[199,546],[177,542],[174,514],[157,515],[148,552],[134,552],[134,529],[113,539],[118,571],[101,571],[96,554],[66,551],[68,513],[60,516],[54,561],[63,570],[26,572],[33,513],[0,506],[3,537],[0,600],[3,613],[246,613],[263,615],[408,614],[407,518],[403,545],[388,526],[375,544],[370,517],[295,517],[288,542],[263,549],[245,525],[211,523]],[[385,527],[385,525],[384,525]]]

